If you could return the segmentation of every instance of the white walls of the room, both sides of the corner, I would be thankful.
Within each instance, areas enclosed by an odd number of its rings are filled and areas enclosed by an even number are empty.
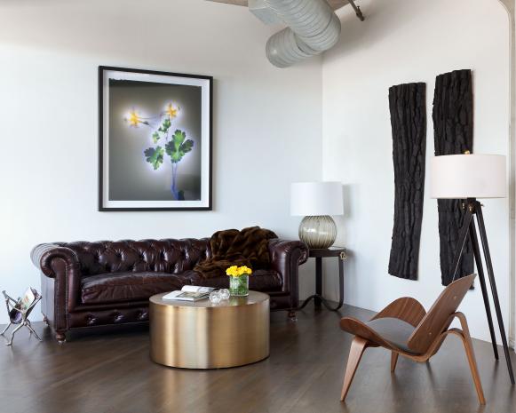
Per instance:
[[[387,274],[393,226],[387,90],[427,83],[430,157],[435,75],[472,68],[475,151],[508,154],[508,20],[496,0],[361,0],[361,7],[364,22],[349,7],[339,12],[341,42],[323,62],[280,70],[264,52],[275,28],[245,8],[203,0],[1,2],[0,287],[19,294],[39,285],[28,259],[38,242],[196,237],[253,224],[296,238],[290,182],[323,176],[346,185],[346,215],[337,220],[337,244],[352,253],[346,302],[377,310],[412,295],[430,305],[441,284],[437,208],[428,197],[419,281]],[[215,77],[213,211],[96,210],[99,65]],[[508,204],[485,204],[507,317]],[[313,262],[302,267],[301,296],[314,289],[313,269]],[[326,292],[337,298],[337,266],[326,269]],[[463,308],[473,335],[488,338],[479,289]]]

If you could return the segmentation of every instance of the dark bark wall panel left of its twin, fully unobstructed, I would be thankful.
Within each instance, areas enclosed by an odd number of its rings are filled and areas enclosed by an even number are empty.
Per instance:
[[[425,83],[389,89],[394,163],[394,226],[389,274],[417,280],[425,189]]]

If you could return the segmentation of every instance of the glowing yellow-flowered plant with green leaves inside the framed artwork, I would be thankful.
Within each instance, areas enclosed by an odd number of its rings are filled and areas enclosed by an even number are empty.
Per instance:
[[[171,194],[176,201],[184,201],[185,191],[179,190],[176,185],[178,166],[183,157],[194,148],[194,140],[187,139],[187,132],[180,129],[176,129],[174,133],[171,134],[172,120],[178,116],[178,112],[179,107],[174,107],[172,103],[169,103],[165,111],[154,118],[143,118],[139,115],[136,109],[132,109],[126,120],[131,127],[139,127],[139,124],[144,124],[153,129],[150,139],[152,139],[153,144],[156,146],[148,147],[144,151],[146,161],[150,163],[156,171],[163,164],[165,153],[170,156],[172,167]],[[155,118],[160,119],[160,123],[158,123],[159,126],[153,126],[147,121],[147,119]],[[157,145],[161,139],[164,139],[166,142],[164,148]]]

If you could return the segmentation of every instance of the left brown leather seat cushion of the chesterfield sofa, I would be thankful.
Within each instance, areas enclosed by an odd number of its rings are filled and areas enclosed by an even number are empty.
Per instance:
[[[180,290],[183,284],[177,275],[170,273],[97,274],[81,281],[81,299],[84,304],[148,299],[160,292]]]

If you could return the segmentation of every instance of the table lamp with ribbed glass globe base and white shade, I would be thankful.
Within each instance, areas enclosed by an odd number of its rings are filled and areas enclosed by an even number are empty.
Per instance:
[[[329,248],[337,237],[337,225],[330,215],[344,213],[342,183],[297,182],[290,187],[290,215],[304,216],[299,239],[308,248]]]

